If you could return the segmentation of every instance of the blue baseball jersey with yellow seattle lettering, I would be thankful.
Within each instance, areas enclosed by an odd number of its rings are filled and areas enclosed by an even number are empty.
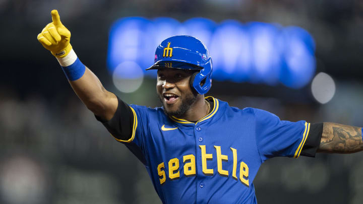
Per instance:
[[[163,203],[257,203],[253,180],[261,164],[298,158],[310,123],[206,99],[213,109],[197,122],[131,105],[132,136],[116,140],[144,163]]]

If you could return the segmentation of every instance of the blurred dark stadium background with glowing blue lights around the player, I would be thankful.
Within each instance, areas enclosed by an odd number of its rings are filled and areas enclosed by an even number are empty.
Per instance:
[[[142,71],[160,35],[204,26],[195,35],[209,36],[215,56],[208,95],[285,120],[363,124],[360,0],[0,0],[0,203],[161,203],[141,162],[95,120],[37,42],[52,9],[83,63],[129,104],[160,105],[155,79]],[[141,28],[130,17],[142,17]],[[193,24],[197,17],[203,25]],[[362,157],[271,159],[255,179],[257,199],[362,203]]]

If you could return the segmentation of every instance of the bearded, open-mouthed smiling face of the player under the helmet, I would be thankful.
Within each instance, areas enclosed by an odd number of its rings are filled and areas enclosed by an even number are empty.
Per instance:
[[[197,99],[189,85],[193,71],[160,69],[157,74],[156,90],[165,112],[183,117]]]

